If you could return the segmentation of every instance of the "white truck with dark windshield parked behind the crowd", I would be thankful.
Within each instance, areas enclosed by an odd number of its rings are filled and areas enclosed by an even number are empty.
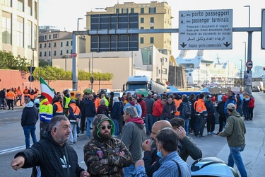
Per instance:
[[[167,91],[167,87],[165,84],[160,84],[149,79],[148,76],[129,76],[126,84],[123,85],[123,91],[130,92],[132,95],[136,92],[147,96],[148,91],[163,93]]]

